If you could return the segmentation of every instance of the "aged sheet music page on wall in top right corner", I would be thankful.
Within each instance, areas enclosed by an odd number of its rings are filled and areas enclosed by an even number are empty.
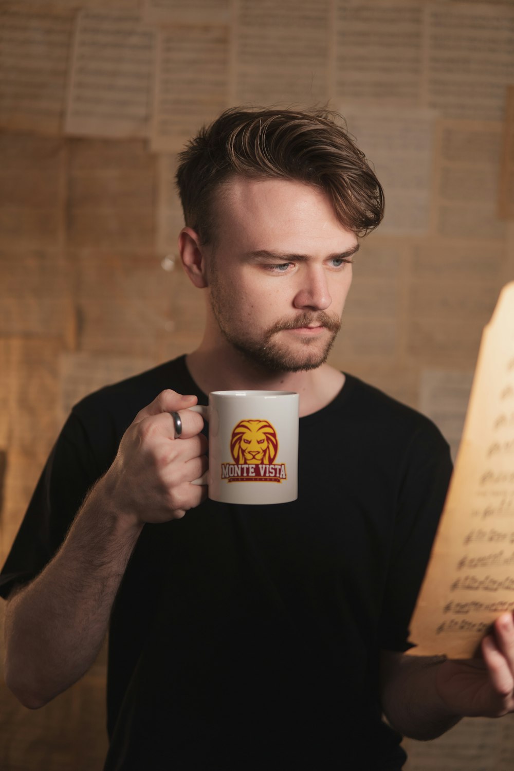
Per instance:
[[[448,118],[502,120],[514,81],[514,8],[434,3],[425,13],[428,106]]]

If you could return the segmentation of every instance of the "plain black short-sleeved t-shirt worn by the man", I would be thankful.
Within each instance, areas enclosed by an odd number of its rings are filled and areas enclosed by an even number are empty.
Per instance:
[[[59,548],[136,413],[196,394],[184,357],[86,397],[62,429],[0,576]],[[425,417],[346,376],[300,420],[298,500],[207,500],[146,525],[109,628],[106,771],[401,769],[378,651],[405,650],[451,461]]]

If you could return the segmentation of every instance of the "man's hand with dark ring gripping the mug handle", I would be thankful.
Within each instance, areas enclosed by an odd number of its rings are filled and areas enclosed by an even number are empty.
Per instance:
[[[99,482],[109,506],[129,524],[160,523],[183,517],[207,497],[205,485],[191,484],[207,470],[203,418],[188,407],[196,396],[163,391],[137,413],[118,453]],[[182,433],[175,438],[171,412],[179,412]]]

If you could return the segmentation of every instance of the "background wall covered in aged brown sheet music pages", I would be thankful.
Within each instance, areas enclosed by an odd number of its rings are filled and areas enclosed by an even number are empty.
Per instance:
[[[0,2],[0,557],[69,407],[196,345],[176,152],[238,103],[329,103],[375,163],[334,365],[454,451],[514,278],[514,2]],[[105,654],[39,712],[0,686],[0,767],[102,766]],[[408,742],[408,771],[511,768],[512,721]]]

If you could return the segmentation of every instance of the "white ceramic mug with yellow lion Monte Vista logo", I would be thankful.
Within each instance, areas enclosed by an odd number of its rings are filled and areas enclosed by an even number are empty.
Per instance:
[[[298,497],[298,394],[213,391],[190,407],[209,421],[209,497],[287,503]],[[205,483],[205,475],[196,484]]]

